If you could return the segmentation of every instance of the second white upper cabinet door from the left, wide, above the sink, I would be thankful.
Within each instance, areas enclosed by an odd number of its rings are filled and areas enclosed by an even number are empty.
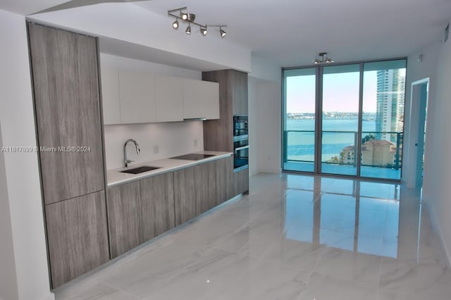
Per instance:
[[[152,73],[119,71],[121,123],[156,122],[155,77]]]

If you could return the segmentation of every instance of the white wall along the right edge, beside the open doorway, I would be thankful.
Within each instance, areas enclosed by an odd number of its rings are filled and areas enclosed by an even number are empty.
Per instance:
[[[412,56],[412,61],[416,61],[416,56]],[[409,63],[409,68],[409,82],[430,77],[423,197],[450,261],[451,136],[448,130],[451,128],[451,42],[429,46],[424,50],[424,62],[418,65]]]

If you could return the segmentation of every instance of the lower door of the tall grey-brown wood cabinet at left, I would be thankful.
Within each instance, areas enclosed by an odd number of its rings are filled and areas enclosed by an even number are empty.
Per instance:
[[[45,213],[53,287],[109,261],[104,191],[49,204]]]

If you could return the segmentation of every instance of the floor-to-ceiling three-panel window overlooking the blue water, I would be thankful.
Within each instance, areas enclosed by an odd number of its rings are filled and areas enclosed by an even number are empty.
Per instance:
[[[283,70],[283,170],[400,180],[406,60]]]

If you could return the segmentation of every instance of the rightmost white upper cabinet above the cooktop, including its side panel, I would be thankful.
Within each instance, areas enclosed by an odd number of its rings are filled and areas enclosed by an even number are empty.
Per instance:
[[[183,118],[219,118],[219,84],[183,80]]]

